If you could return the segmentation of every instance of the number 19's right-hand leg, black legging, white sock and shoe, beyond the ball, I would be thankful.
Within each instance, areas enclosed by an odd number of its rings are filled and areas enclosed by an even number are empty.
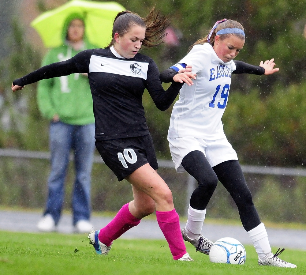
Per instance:
[[[268,240],[268,234],[252,200],[252,194],[245,182],[238,160],[228,160],[213,167],[219,181],[230,193],[235,201],[241,223],[247,231],[259,257],[259,265],[273,265],[279,267],[296,267],[273,255]]]

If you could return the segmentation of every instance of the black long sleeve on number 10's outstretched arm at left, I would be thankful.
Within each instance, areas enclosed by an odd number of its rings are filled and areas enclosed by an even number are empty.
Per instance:
[[[63,75],[69,75],[71,73],[80,73],[77,69],[73,59],[68,59],[62,62],[52,63],[47,66],[43,66],[38,70],[33,71],[21,78],[15,79],[13,85],[24,86],[42,79],[60,77]]]

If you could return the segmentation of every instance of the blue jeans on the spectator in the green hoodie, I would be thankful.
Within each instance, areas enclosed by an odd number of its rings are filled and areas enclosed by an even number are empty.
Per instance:
[[[91,212],[91,169],[95,150],[95,125],[70,125],[50,123],[51,172],[48,179],[48,198],[44,215],[50,214],[55,224],[61,217],[64,201],[64,183],[73,149],[75,182],[73,186],[73,225],[79,220],[89,220]]]

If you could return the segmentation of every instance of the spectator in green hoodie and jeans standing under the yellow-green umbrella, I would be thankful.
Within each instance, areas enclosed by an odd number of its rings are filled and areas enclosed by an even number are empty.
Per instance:
[[[81,16],[73,14],[63,29],[63,45],[51,49],[42,66],[65,61],[80,51],[93,48],[84,37],[85,26]],[[37,227],[40,231],[55,231],[64,202],[64,184],[73,149],[75,182],[72,194],[73,225],[76,232],[88,233],[91,168],[95,149],[95,119],[87,74],[74,73],[39,82],[37,101],[42,115],[50,119],[51,172],[48,179],[48,198],[43,217]]]

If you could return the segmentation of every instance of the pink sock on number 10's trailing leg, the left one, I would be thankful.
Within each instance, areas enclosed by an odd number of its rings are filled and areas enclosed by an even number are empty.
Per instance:
[[[100,229],[99,240],[106,246],[110,246],[113,240],[118,239],[124,232],[140,223],[129,211],[129,204],[125,204],[119,210],[113,220]]]

